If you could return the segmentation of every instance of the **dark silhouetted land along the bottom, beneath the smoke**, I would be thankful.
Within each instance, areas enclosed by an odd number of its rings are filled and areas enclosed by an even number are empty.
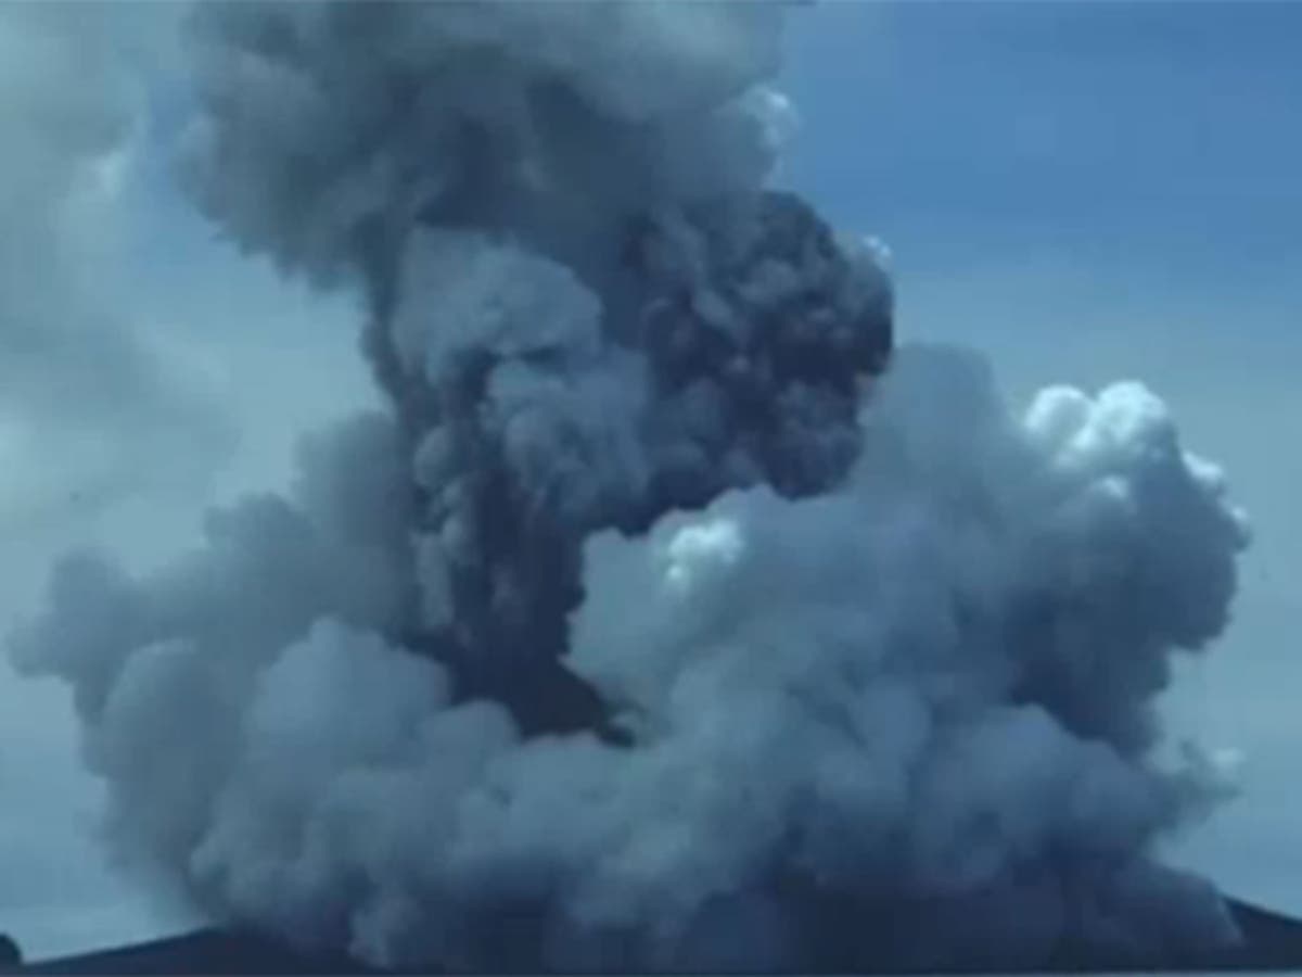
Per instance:
[[[1271,972],[1302,969],[1302,920],[1269,912],[1247,903],[1230,900],[1234,918],[1243,931],[1245,942],[1233,951],[1216,954],[1204,960],[1172,961],[1167,965],[1152,961],[1100,960],[1086,954],[1060,952],[1052,961],[1038,965],[1012,967],[950,967],[943,970],[927,968],[927,973],[1107,973],[1137,969],[1154,972]],[[0,937],[0,944],[5,938]],[[243,933],[216,929],[199,930],[181,937],[158,939],[117,947],[95,954],[61,957],[57,960],[20,963],[17,947],[8,941],[10,954],[0,959],[0,970],[7,973],[46,974],[349,974],[379,973],[345,956],[312,956],[296,952],[285,944]],[[509,973],[513,968],[493,968],[495,973]],[[852,968],[858,973],[907,973],[910,968],[883,968],[872,960],[863,960]],[[424,973],[435,970],[426,969]],[[516,972],[529,972],[525,970]],[[534,970],[536,972],[536,970]],[[844,968],[840,968],[844,972]]]

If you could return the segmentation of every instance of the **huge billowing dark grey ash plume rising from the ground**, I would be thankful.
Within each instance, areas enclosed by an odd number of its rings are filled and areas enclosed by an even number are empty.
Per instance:
[[[1137,384],[1006,408],[766,189],[760,4],[204,5],[204,211],[357,288],[388,416],[148,578],[69,559],[111,838],[383,965],[1139,959],[1154,697],[1246,539]],[[599,42],[599,43],[598,43]]]

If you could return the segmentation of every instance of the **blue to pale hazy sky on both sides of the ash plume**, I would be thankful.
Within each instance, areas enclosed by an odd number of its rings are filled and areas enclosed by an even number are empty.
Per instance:
[[[0,95],[8,146],[26,133],[22,92],[85,111],[86,52],[103,38],[152,78],[91,194],[103,212],[77,224],[94,229],[73,250],[99,298],[46,350],[62,363],[55,395],[9,409],[0,392],[0,623],[33,604],[64,546],[164,559],[193,539],[202,503],[281,483],[297,431],[370,399],[348,302],[236,255],[172,184],[177,65],[139,39],[167,30],[167,7],[78,7],[103,18],[81,33],[100,33],[62,52],[61,73],[0,23],[0,63],[21,82]],[[904,340],[986,350],[1014,403],[1048,383],[1143,379],[1189,447],[1225,465],[1256,541],[1230,633],[1181,668],[1165,711],[1173,735],[1243,750],[1243,796],[1172,857],[1302,913],[1299,38],[1302,4],[825,3],[793,18],[784,86],[803,122],[783,181],[891,245]],[[27,52],[26,76],[12,52]],[[12,156],[0,186],[49,172]],[[0,193],[4,225],[57,223],[34,199]],[[30,281],[22,259],[0,248],[0,285]],[[5,332],[13,311],[0,300],[0,356],[27,348]],[[112,339],[87,356],[87,336]],[[167,382],[83,388],[87,362]],[[7,671],[0,792],[0,929],[29,952],[178,922],[100,868],[61,690]]]

